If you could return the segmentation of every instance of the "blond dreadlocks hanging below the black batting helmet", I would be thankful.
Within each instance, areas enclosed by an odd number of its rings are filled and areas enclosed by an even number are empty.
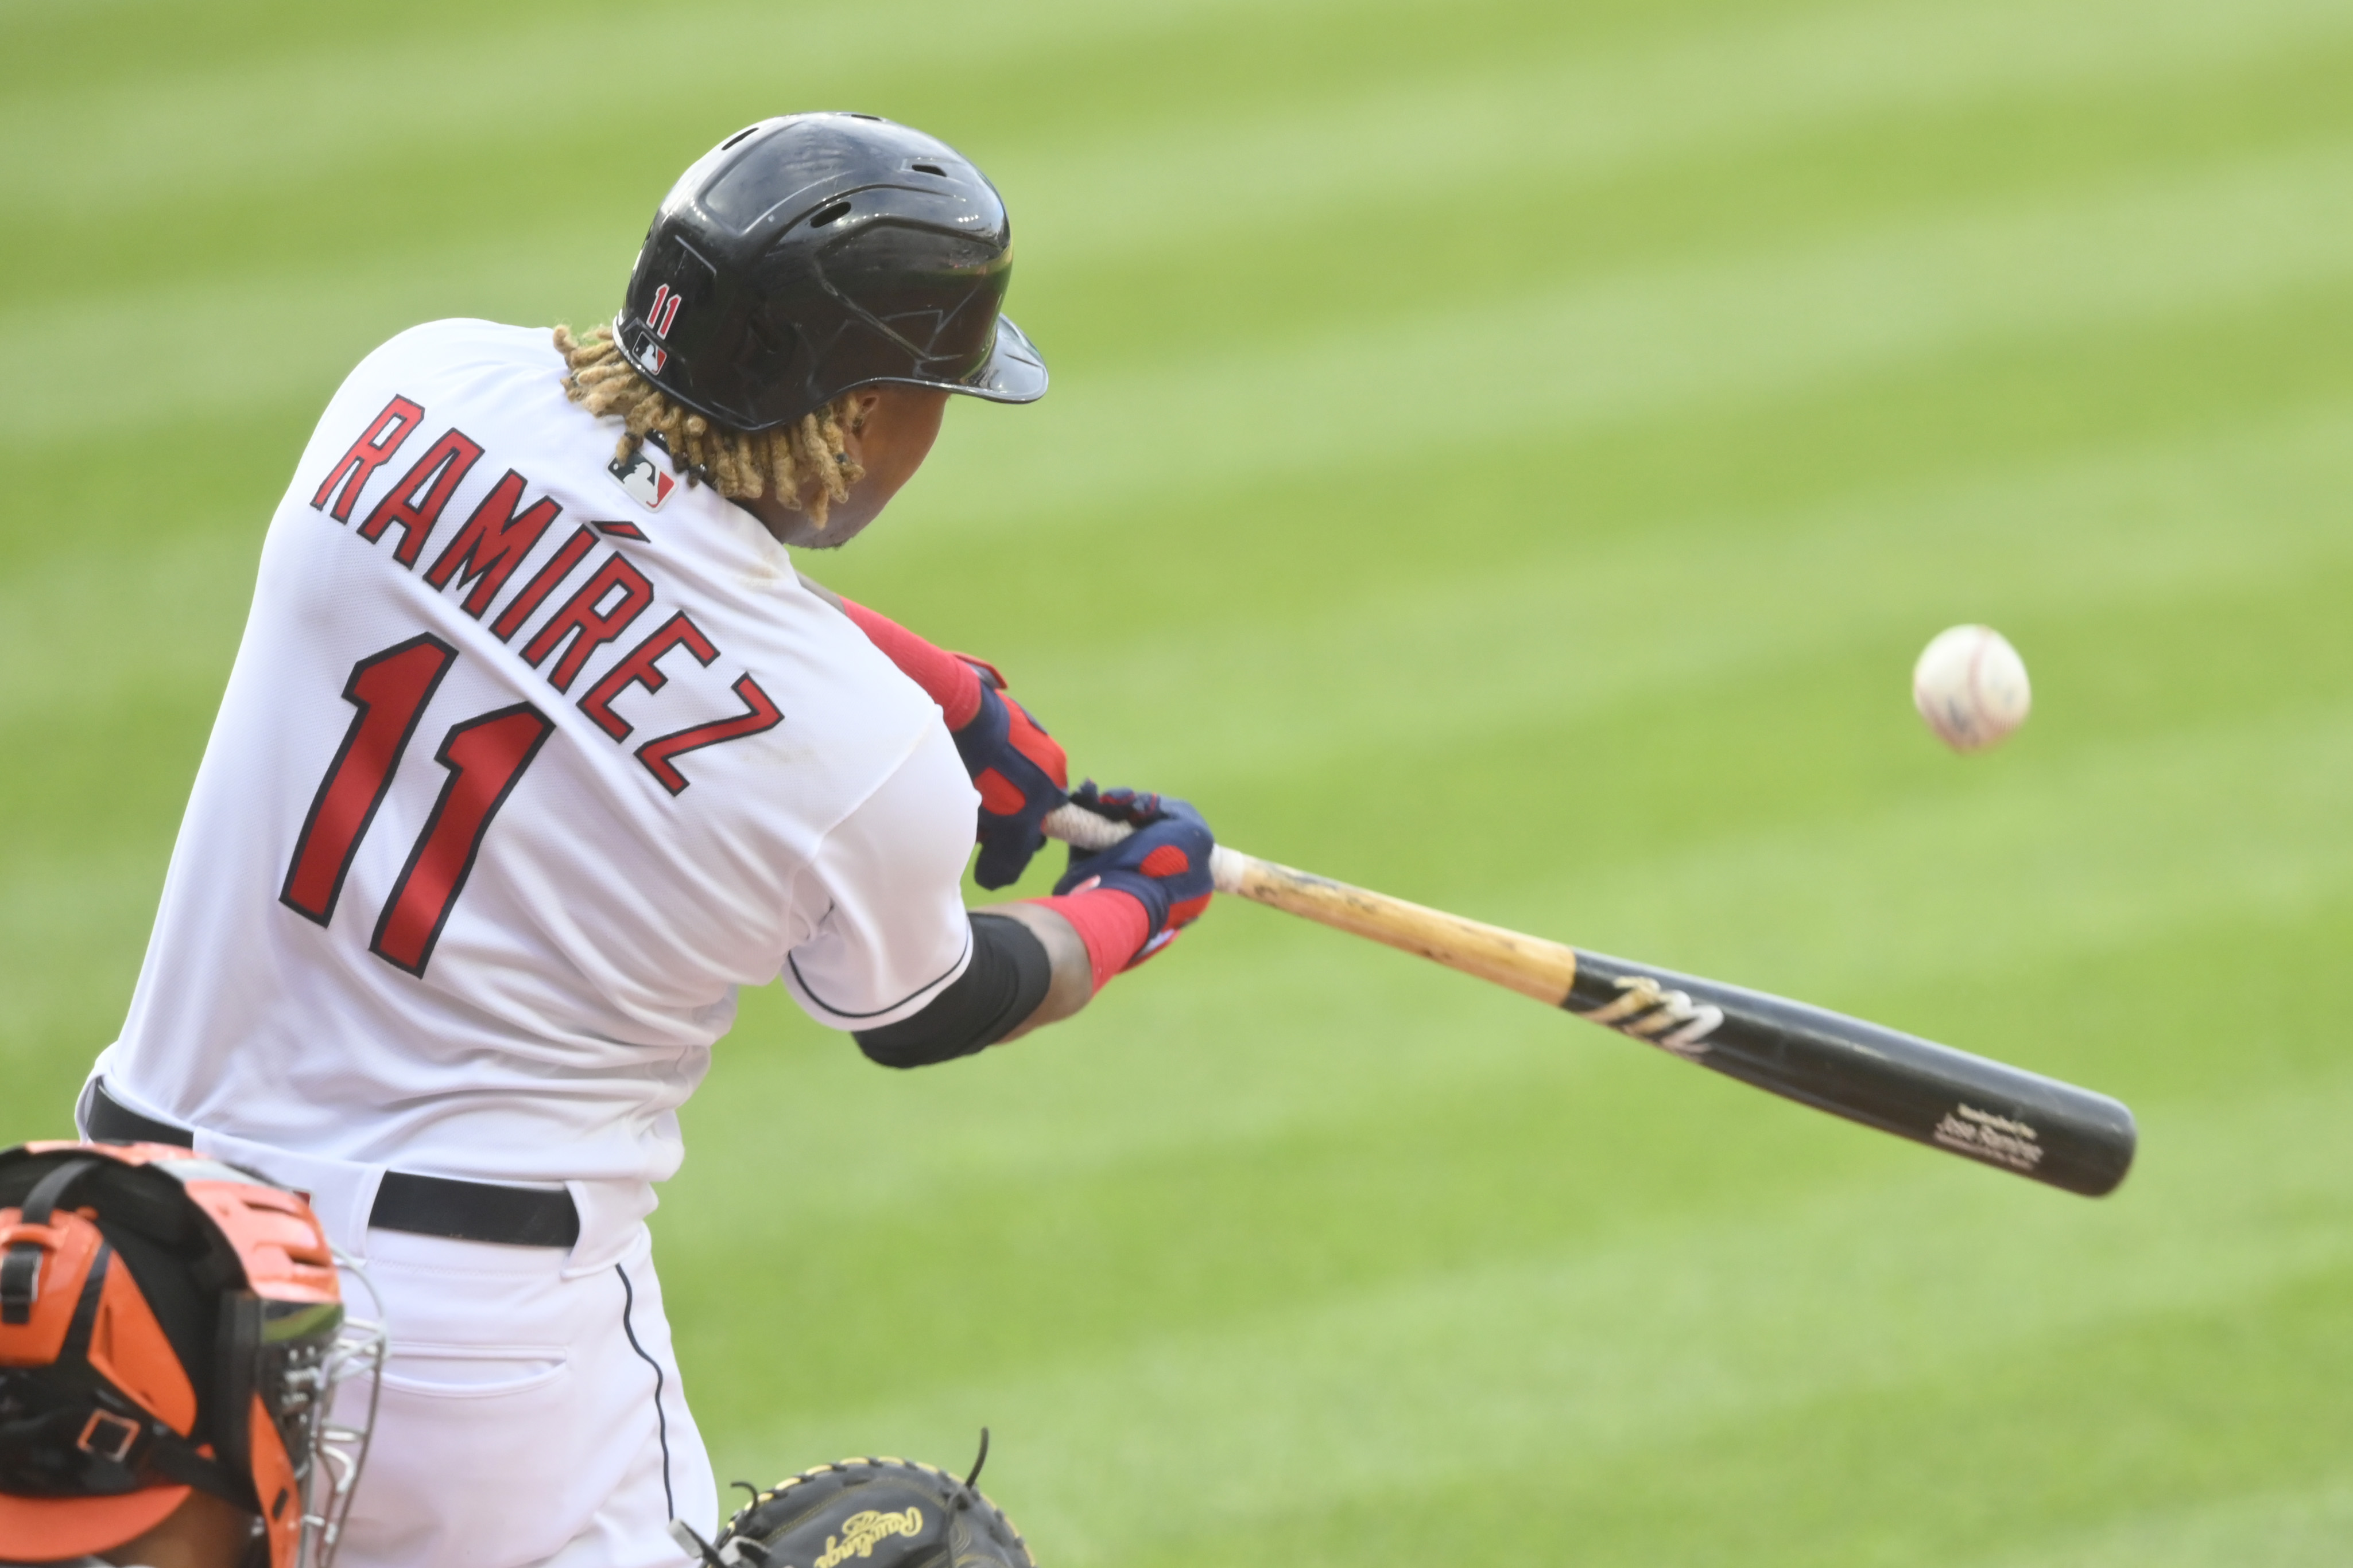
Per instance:
[[[856,433],[856,393],[842,393],[800,423],[776,430],[729,430],[694,409],[685,409],[638,374],[612,341],[612,327],[598,327],[574,339],[569,327],[555,329],[562,353],[565,397],[591,414],[619,414],[628,435],[616,456],[635,456],[647,435],[661,435],[671,456],[685,465],[689,482],[701,475],[727,498],[758,498],[774,491],[791,510],[807,505],[809,520],[824,529],[826,510],[849,498],[849,487],[866,477],[845,449],[845,435]],[[807,494],[807,501],[802,498]]]

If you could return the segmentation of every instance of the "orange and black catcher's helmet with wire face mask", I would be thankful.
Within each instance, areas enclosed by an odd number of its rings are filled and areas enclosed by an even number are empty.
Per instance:
[[[254,1563],[325,1568],[381,1366],[301,1194],[155,1143],[0,1152],[0,1556],[111,1552],[200,1488]]]

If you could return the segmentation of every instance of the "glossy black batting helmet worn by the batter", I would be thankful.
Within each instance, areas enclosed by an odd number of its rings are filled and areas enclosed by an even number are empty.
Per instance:
[[[875,115],[784,115],[704,153],[638,252],[614,339],[734,430],[772,430],[880,381],[1045,397],[998,310],[1012,226],[955,148]]]

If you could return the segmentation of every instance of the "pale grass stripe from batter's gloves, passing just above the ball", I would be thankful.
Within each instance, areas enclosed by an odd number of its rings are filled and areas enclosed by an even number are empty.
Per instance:
[[[1254,597],[1209,599],[1214,637],[1151,649],[1172,686],[1153,712],[1118,701],[1144,637],[1113,642],[1111,658],[1101,644],[1038,646],[1019,672],[1026,691],[1085,715],[1073,741],[1104,757],[1092,766],[1247,788],[1351,757],[1400,712],[1424,745],[1539,715],[1600,722],[1948,621],[2049,618],[2327,571],[2353,548],[2329,501],[2353,484],[2348,428],[2353,404],[2327,402],[2202,437],[2125,440],[1769,512],[1727,503],[1621,538],[1567,524],[1555,545],[1492,567],[1417,562],[1271,618],[1249,609]],[[1315,701],[1292,696],[1301,691]],[[1901,701],[1901,684],[1889,693]],[[1181,736],[1167,731],[1169,708]]]

